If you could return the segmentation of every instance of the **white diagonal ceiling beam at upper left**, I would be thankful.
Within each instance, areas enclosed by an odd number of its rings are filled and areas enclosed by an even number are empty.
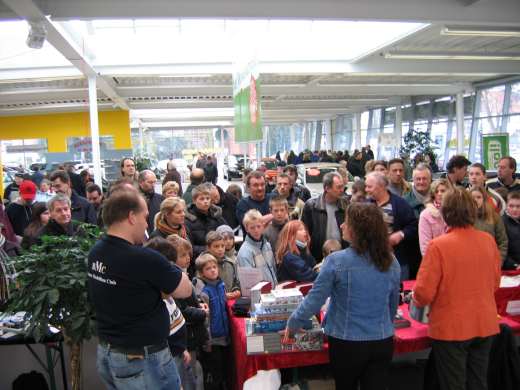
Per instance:
[[[74,65],[85,77],[96,77],[97,88],[108,96],[118,107],[129,110],[126,101],[121,98],[110,83],[102,77],[91,65],[90,60],[82,50],[56,23],[53,23],[34,4],[32,0],[3,0],[19,17],[31,21],[41,22],[47,30],[47,41],[56,48],[72,65]]]

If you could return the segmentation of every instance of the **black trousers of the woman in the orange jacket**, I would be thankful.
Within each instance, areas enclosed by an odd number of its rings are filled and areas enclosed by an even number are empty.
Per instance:
[[[465,341],[433,340],[441,389],[486,390],[489,351],[494,337],[475,337]]]

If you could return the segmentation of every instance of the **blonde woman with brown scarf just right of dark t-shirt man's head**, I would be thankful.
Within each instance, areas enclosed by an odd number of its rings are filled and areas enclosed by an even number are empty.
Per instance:
[[[150,238],[166,238],[176,234],[184,239],[188,238],[188,231],[184,223],[186,203],[183,199],[173,197],[166,198],[161,203],[161,208],[155,216],[155,230]]]

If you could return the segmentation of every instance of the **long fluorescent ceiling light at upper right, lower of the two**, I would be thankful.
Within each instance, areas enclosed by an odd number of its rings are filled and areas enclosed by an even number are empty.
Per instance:
[[[520,53],[460,53],[460,52],[386,52],[387,59],[399,60],[469,60],[520,61]]]

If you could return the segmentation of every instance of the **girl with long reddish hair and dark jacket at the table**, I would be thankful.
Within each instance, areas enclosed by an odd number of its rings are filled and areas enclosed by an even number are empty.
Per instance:
[[[288,222],[278,237],[276,264],[278,281],[312,282],[318,274],[313,270],[316,260],[309,252],[311,239],[301,221]]]

